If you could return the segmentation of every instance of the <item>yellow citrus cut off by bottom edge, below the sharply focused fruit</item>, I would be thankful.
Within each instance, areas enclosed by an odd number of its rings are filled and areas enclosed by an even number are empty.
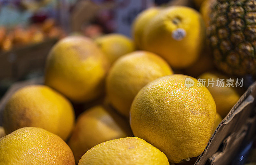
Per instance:
[[[168,159],[156,147],[137,137],[106,141],[92,147],[78,165],[169,165]]]

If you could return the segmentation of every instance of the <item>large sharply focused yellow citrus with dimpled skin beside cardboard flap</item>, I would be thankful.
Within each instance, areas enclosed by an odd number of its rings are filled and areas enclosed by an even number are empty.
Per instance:
[[[186,82],[194,82],[187,84]],[[134,136],[161,150],[171,163],[204,151],[216,116],[206,87],[187,75],[168,75],[143,87],[132,102],[130,124]]]

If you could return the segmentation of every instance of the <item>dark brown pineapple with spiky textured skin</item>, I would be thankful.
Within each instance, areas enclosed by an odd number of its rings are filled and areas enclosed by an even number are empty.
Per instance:
[[[213,0],[207,27],[217,68],[230,75],[256,73],[256,0]]]

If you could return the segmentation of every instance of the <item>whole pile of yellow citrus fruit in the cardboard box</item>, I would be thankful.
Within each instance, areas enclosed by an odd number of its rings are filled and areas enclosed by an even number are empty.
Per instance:
[[[168,165],[199,156],[240,97],[194,78],[225,77],[201,68],[212,61],[201,14],[150,8],[132,35],[57,42],[44,84],[17,90],[5,106],[0,164]],[[92,102],[81,114],[74,108]]]

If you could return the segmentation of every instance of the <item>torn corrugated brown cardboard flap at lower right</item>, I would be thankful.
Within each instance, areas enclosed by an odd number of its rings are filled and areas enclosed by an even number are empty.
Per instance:
[[[255,135],[255,97],[256,82],[248,88],[222,120],[195,165],[229,164],[242,142]]]

